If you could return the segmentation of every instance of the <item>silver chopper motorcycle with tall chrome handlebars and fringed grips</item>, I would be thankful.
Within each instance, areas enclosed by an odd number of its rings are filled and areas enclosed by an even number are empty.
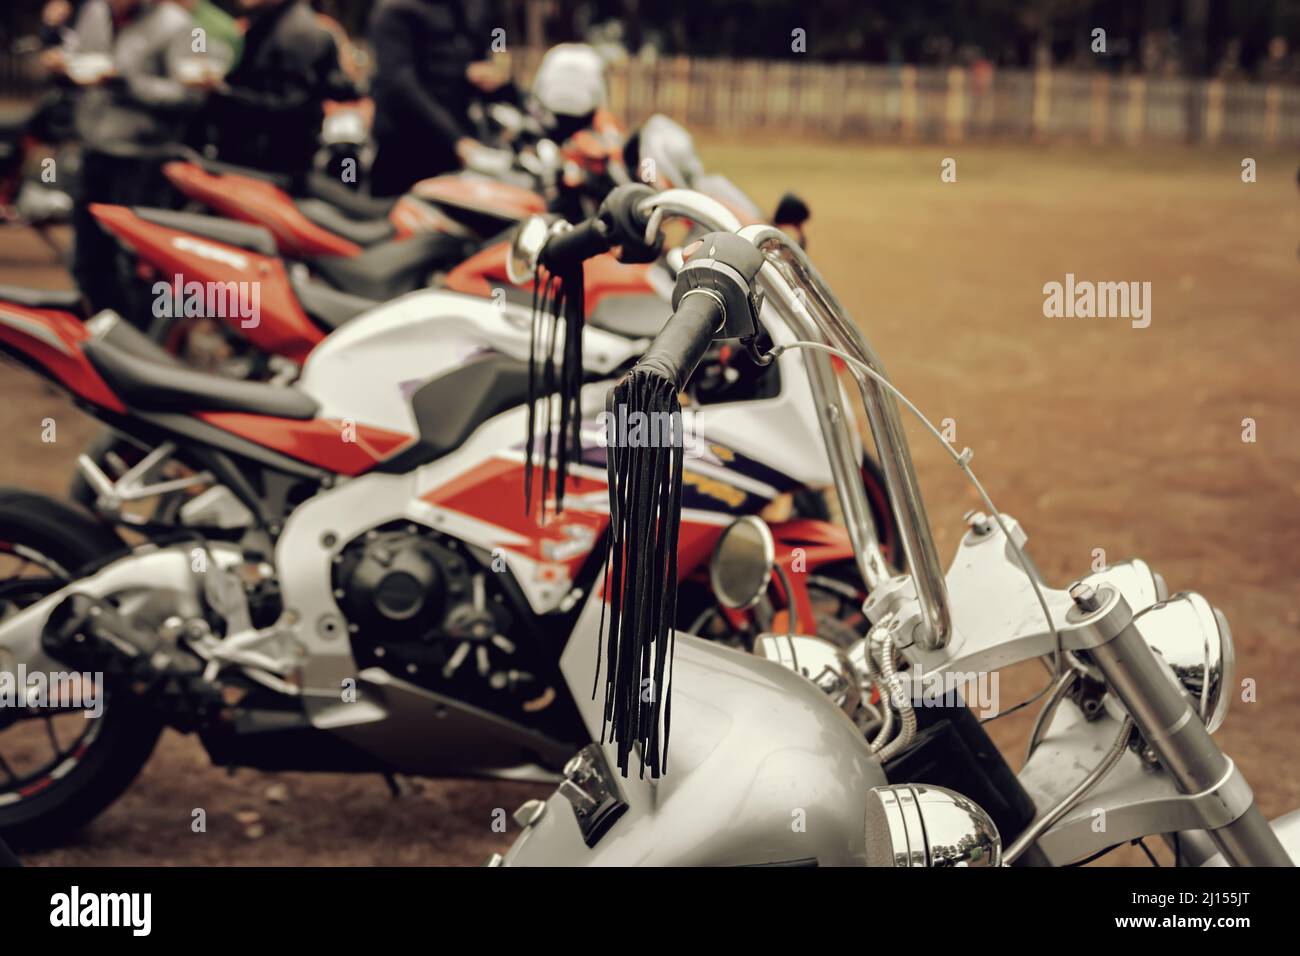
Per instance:
[[[520,808],[521,835],[489,862],[1065,866],[1154,835],[1179,865],[1300,858],[1300,812],[1270,826],[1212,736],[1234,693],[1222,613],[1199,594],[1170,594],[1141,561],[1053,588],[1026,553],[1023,528],[975,480],[970,451],[952,447],[987,514],[968,515],[944,575],[898,401],[919,410],[790,237],[771,226],[737,232],[710,208],[685,191],[641,207],[719,232],[688,250],[672,319],[607,408],[680,414],[679,389],[719,336],[740,337],[759,362],[806,352],[870,592],[870,631],[845,652],[792,627],[760,635],[750,654],[675,633],[664,558],[686,528],[676,471],[684,446],[611,445],[606,584],[586,598],[560,658],[571,680],[589,680],[595,665],[603,700],[584,697],[578,709],[602,743],[571,758],[550,799]],[[758,345],[760,298],[793,341]],[[854,434],[837,415],[832,355],[866,405],[905,574],[878,579],[862,561],[875,541],[853,519],[863,492],[845,467]],[[723,533],[711,574],[731,601],[768,589],[771,542],[750,518]],[[777,570],[776,581],[785,576]],[[1048,665],[1049,684],[1028,758],[1013,774],[987,740],[963,732],[971,718],[962,692],[980,674],[1034,658]],[[864,705],[878,710],[870,734],[850,719]]]

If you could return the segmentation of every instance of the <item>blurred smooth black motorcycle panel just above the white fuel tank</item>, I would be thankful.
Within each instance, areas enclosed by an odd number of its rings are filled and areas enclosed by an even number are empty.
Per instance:
[[[387,302],[424,287],[432,273],[451,268],[468,252],[464,239],[445,233],[421,233],[381,242],[359,256],[320,256],[308,265],[339,291]]]

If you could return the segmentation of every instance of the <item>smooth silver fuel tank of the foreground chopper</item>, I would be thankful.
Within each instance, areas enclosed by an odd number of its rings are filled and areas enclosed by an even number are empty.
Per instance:
[[[592,661],[594,667],[595,662]],[[618,775],[628,804],[588,848],[559,791],[506,866],[866,864],[866,795],[885,775],[861,731],[809,680],[679,635],[668,769]]]

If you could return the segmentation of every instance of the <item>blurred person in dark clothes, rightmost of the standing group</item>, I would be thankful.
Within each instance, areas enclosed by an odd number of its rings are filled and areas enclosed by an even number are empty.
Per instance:
[[[469,104],[507,86],[488,59],[493,27],[485,0],[378,0],[370,16],[374,195],[456,169],[481,147]]]

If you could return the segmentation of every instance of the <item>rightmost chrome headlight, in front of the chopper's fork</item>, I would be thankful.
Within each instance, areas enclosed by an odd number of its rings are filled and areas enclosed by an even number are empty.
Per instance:
[[[1200,594],[1184,591],[1135,614],[1134,626],[1174,671],[1205,728],[1217,731],[1236,682],[1236,650],[1223,614]]]

